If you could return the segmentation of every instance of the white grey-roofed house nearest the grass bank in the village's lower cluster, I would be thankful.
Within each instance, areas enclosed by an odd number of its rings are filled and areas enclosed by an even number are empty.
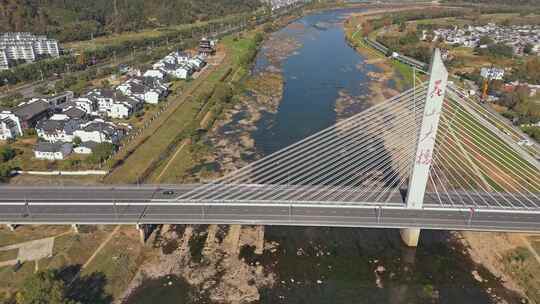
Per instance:
[[[117,144],[124,136],[124,131],[112,122],[96,119],[82,124],[78,130],[73,132],[73,136],[80,138],[82,142]]]

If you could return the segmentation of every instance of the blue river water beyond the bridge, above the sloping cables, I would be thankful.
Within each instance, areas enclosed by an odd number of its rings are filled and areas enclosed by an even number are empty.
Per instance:
[[[274,33],[288,35],[300,47],[281,62],[285,82],[278,112],[267,114],[253,134],[259,151],[267,155],[336,122],[335,102],[340,91],[368,93],[367,73],[374,66],[357,68],[364,59],[344,40],[341,21],[346,10],[306,16]],[[269,64],[267,49],[257,56],[255,71]]]

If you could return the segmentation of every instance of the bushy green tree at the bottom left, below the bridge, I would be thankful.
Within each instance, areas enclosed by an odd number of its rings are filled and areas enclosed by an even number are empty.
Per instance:
[[[53,270],[27,278],[16,297],[17,304],[75,304],[67,298],[64,281]]]

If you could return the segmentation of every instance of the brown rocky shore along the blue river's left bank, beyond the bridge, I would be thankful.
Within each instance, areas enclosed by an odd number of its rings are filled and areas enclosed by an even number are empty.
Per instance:
[[[291,23],[288,27],[298,29],[302,24]],[[270,35],[263,44],[258,59],[266,64],[253,69],[245,83],[245,93],[233,108],[224,113],[209,136],[210,145],[215,147],[209,159],[219,164],[220,175],[261,157],[251,134],[257,130],[257,123],[263,115],[277,112],[284,87],[281,63],[300,47],[293,36],[281,32]]]

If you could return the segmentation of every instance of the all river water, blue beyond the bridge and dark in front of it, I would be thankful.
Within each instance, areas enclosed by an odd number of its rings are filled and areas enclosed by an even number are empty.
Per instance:
[[[265,114],[253,133],[263,155],[335,123],[340,91],[367,93],[367,72],[377,68],[356,68],[364,58],[347,45],[339,24],[350,12],[309,15],[274,34],[291,35],[301,46],[281,62],[285,86],[277,113]],[[255,70],[268,65],[262,53]],[[260,290],[260,303],[484,304],[497,303],[499,296],[518,301],[475,265],[449,232],[422,231],[417,249],[404,247],[392,229],[269,226],[265,240],[277,242],[277,250],[245,256],[276,275],[272,288]],[[483,282],[475,279],[474,270]],[[187,296],[185,284],[171,290],[168,280],[144,284],[130,303],[198,303]]]

